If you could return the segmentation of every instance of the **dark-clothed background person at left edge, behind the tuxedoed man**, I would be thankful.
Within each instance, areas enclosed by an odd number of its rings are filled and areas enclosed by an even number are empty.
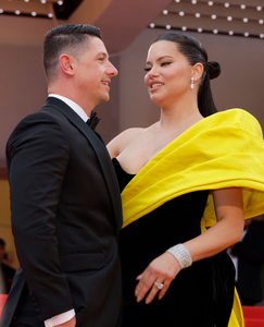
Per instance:
[[[15,275],[15,269],[3,263],[5,255],[5,242],[0,239],[0,294],[8,294],[11,288],[12,280]]]

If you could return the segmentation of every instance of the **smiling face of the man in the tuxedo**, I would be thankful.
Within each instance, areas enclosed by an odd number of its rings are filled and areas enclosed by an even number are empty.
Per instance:
[[[109,55],[102,40],[89,37],[88,49],[74,61],[76,86],[90,107],[109,100],[110,82],[117,70],[109,61]]]

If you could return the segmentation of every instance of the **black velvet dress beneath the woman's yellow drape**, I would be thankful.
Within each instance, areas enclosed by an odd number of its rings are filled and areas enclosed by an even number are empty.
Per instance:
[[[113,159],[121,192],[134,178]],[[232,306],[235,269],[229,256],[196,262],[172,281],[165,296],[136,302],[136,277],[171,246],[201,233],[209,191],[175,197],[121,231],[124,327],[226,327]]]

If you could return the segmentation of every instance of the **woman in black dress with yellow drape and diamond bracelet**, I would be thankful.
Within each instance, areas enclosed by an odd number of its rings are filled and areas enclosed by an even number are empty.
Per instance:
[[[123,325],[225,327],[235,271],[224,250],[264,211],[262,132],[243,110],[215,113],[221,68],[193,37],[159,36],[146,71],[160,121],[108,146],[124,210]]]

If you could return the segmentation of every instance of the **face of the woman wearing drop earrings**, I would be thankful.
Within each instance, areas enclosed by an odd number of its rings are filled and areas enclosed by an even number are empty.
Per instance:
[[[174,105],[191,92],[192,66],[173,41],[160,40],[150,47],[146,71],[150,98],[161,107]]]

